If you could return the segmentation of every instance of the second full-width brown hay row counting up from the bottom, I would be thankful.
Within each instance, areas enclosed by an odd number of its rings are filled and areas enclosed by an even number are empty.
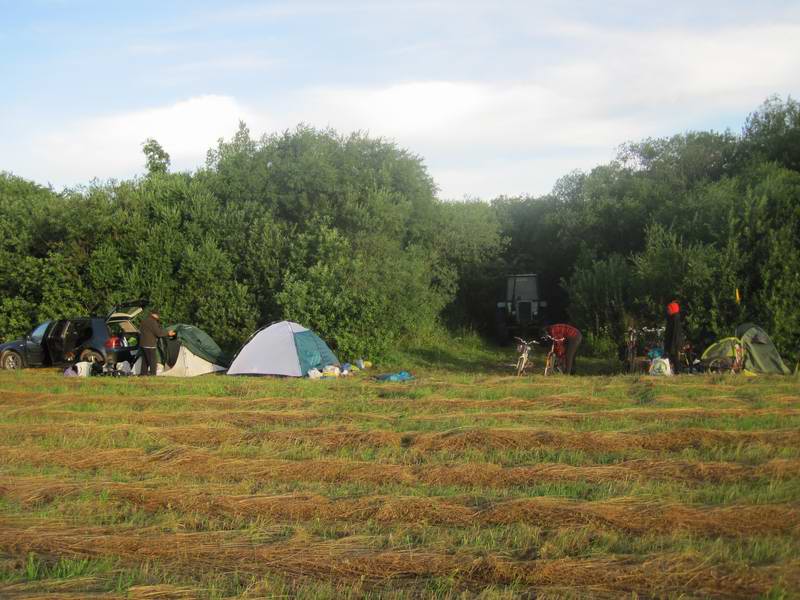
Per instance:
[[[687,531],[731,537],[800,534],[800,507],[784,504],[699,507],[633,498],[579,502],[540,497],[476,508],[435,497],[367,496],[331,500],[318,494],[229,495],[197,487],[154,488],[112,482],[73,483],[41,477],[0,477],[0,496],[24,507],[86,491],[105,492],[150,512],[170,509],[250,519],[357,522],[374,519],[382,523],[449,526],[526,523],[547,529],[591,524],[632,534]]]

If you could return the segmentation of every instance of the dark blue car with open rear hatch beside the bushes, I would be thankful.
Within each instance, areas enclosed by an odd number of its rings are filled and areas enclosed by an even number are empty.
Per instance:
[[[133,318],[146,300],[126,302],[108,317],[77,317],[45,321],[21,340],[0,344],[0,367],[46,367],[78,361],[131,364],[139,353],[139,330]]]

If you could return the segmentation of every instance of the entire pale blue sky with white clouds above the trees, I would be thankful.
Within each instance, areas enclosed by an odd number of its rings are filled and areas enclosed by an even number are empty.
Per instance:
[[[194,169],[239,119],[368,131],[443,198],[542,194],[619,144],[800,92],[800,3],[0,0],[0,170]]]

